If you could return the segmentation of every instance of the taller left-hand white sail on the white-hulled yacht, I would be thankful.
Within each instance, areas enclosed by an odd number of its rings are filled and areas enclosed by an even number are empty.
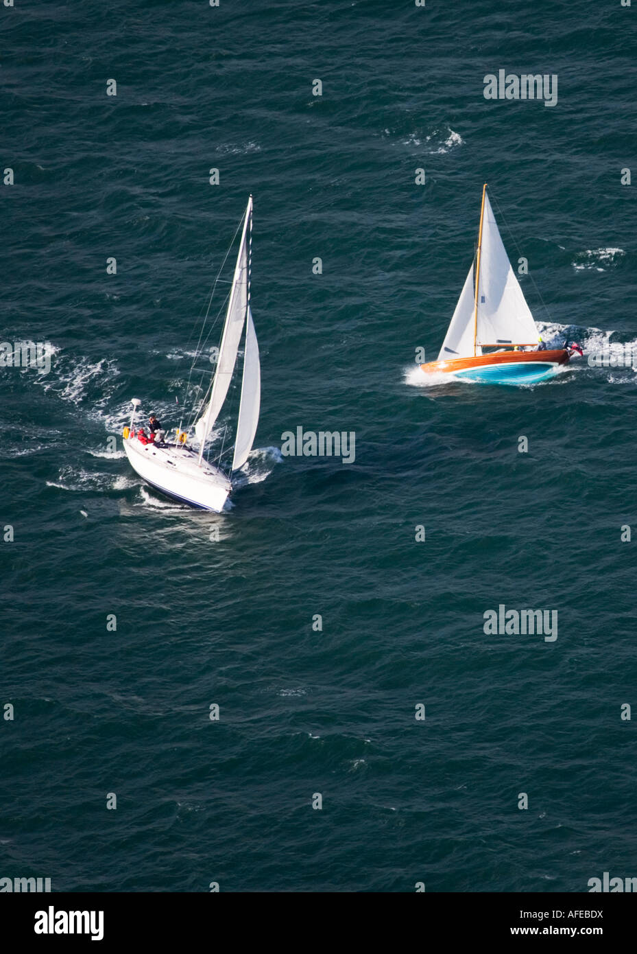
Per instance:
[[[201,444],[204,443],[215,426],[219,411],[221,410],[223,402],[226,400],[233,371],[235,370],[236,352],[238,351],[239,341],[241,340],[241,332],[243,330],[243,322],[245,321],[248,305],[248,243],[246,235],[251,213],[252,197],[248,199],[245,220],[243,222],[241,244],[239,245],[238,255],[236,257],[235,277],[230,293],[230,301],[228,302],[228,311],[223,327],[221,344],[219,345],[219,356],[216,362],[215,381],[213,382],[210,403],[195,424],[195,434]]]

